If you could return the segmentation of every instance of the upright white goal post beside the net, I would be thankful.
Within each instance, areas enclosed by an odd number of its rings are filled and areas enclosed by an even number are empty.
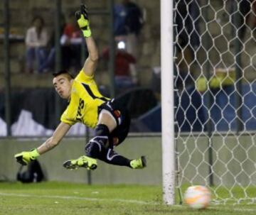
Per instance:
[[[173,1],[161,0],[161,92],[164,92],[161,94],[162,176],[166,204],[174,204],[175,199],[172,4]]]

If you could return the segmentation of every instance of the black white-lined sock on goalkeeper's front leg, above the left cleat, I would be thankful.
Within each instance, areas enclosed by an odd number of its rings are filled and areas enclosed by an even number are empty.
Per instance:
[[[110,131],[106,125],[100,124],[95,128],[96,136],[85,145],[85,154],[91,158],[100,158],[107,147]]]

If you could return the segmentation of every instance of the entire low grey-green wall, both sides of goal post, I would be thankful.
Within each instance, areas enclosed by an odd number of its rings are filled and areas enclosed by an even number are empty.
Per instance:
[[[256,184],[255,154],[253,143],[255,136],[245,135],[213,137],[213,182],[214,184],[243,185]],[[18,163],[14,154],[30,150],[43,142],[31,139],[0,139],[0,178],[16,180]],[[47,180],[87,182],[87,171],[65,170],[65,160],[82,155],[85,140],[65,138],[60,145],[38,158]],[[116,148],[117,152],[128,158],[146,155],[147,167],[144,170],[132,170],[127,167],[107,165],[99,161],[97,170],[92,171],[92,183],[95,184],[161,184],[161,138],[159,135],[147,138],[127,138]],[[181,184],[207,184],[209,176],[208,140],[203,136],[181,136],[177,142],[179,160],[179,182]],[[232,151],[232,152],[231,152]]]

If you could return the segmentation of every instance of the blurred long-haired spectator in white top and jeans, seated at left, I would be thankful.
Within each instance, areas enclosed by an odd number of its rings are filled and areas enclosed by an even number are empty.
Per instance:
[[[32,26],[26,32],[26,70],[39,73],[43,61],[46,58],[46,45],[48,42],[48,32],[45,28],[44,20],[41,16],[36,16],[32,20]]]

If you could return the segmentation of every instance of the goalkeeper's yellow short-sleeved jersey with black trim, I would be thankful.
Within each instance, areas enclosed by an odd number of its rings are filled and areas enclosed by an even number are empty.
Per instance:
[[[81,70],[73,81],[70,103],[60,121],[70,126],[80,122],[90,128],[95,128],[98,120],[98,107],[109,100],[100,94],[93,76],[87,76]]]

